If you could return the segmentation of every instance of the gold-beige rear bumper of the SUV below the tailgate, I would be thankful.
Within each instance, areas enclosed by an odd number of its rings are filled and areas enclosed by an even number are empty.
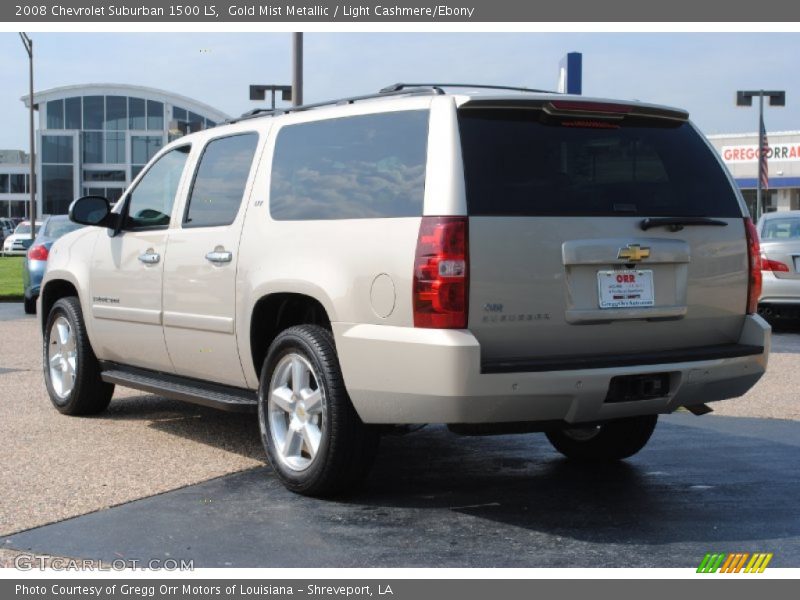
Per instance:
[[[769,325],[748,316],[742,356],[557,371],[484,373],[466,330],[334,323],[347,390],[366,423],[585,423],[734,398],[764,374]],[[663,398],[606,403],[612,377],[669,373]]]

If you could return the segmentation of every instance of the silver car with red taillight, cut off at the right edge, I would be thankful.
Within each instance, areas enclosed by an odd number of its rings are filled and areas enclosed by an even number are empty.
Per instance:
[[[758,312],[771,320],[800,318],[800,210],[765,214],[758,232],[764,281]]]

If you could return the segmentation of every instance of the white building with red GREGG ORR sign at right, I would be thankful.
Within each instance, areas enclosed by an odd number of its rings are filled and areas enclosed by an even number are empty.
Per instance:
[[[758,187],[758,134],[710,135],[755,215]],[[764,212],[800,210],[800,131],[767,133],[769,187],[763,192]]]

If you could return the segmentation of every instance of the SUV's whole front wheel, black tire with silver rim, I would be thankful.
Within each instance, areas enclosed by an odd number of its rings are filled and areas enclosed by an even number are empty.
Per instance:
[[[100,378],[81,304],[74,296],[61,298],[50,310],[42,354],[47,393],[59,412],[94,415],[108,407],[114,385]]]

